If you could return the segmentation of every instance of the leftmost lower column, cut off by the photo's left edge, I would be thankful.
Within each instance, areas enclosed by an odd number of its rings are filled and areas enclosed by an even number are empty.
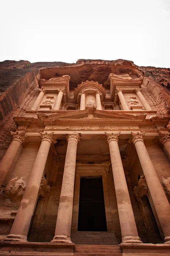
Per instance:
[[[14,158],[17,155],[20,146],[23,144],[25,140],[25,131],[21,133],[19,133],[18,131],[11,131],[11,134],[13,135],[13,140],[9,145],[3,159],[0,162],[0,187],[2,186],[6,178],[6,175],[14,161]]]

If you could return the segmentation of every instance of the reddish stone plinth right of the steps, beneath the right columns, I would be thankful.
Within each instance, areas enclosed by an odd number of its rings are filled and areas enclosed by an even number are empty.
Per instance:
[[[170,244],[119,244],[123,256],[170,255]]]

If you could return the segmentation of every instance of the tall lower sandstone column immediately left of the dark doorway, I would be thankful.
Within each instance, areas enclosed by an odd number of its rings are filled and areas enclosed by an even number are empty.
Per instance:
[[[71,221],[73,212],[74,178],[76,168],[77,143],[79,134],[68,134],[62,189],[59,200],[57,223],[54,239],[51,242],[72,243]]]

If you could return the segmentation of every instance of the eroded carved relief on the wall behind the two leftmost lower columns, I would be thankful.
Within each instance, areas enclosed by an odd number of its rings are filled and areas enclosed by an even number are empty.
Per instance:
[[[26,182],[23,177],[21,177],[20,179],[16,177],[12,180],[9,180],[4,191],[8,198],[12,198],[13,201],[16,202],[22,199],[25,189]]]

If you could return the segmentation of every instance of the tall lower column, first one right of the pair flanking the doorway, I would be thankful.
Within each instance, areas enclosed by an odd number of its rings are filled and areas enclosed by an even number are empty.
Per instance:
[[[144,132],[131,132],[132,143],[135,145],[139,161],[147,181],[147,186],[149,188],[150,195],[152,197],[153,204],[165,236],[165,244],[170,244],[170,205],[167,201],[164,189],[161,186],[159,178],[156,174],[156,170],[144,145],[144,134]]]

